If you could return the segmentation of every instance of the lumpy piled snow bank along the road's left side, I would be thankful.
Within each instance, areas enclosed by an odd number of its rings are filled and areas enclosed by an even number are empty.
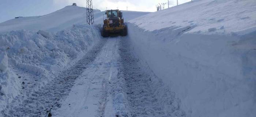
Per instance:
[[[22,30],[0,35],[0,110],[18,95],[22,84],[14,70],[40,77],[34,82],[40,88],[101,39],[100,27],[73,25],[57,33]]]

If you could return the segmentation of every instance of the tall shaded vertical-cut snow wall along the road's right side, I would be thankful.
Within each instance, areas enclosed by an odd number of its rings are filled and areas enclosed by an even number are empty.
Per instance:
[[[256,31],[202,35],[128,24],[132,49],[181,99],[188,117],[256,115]],[[188,29],[189,31],[189,29]]]

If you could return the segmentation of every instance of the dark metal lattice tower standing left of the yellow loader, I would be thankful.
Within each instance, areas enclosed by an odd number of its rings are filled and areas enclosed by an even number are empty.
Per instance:
[[[89,24],[89,25],[94,24],[92,0],[86,0],[86,21],[87,21],[87,24]]]

